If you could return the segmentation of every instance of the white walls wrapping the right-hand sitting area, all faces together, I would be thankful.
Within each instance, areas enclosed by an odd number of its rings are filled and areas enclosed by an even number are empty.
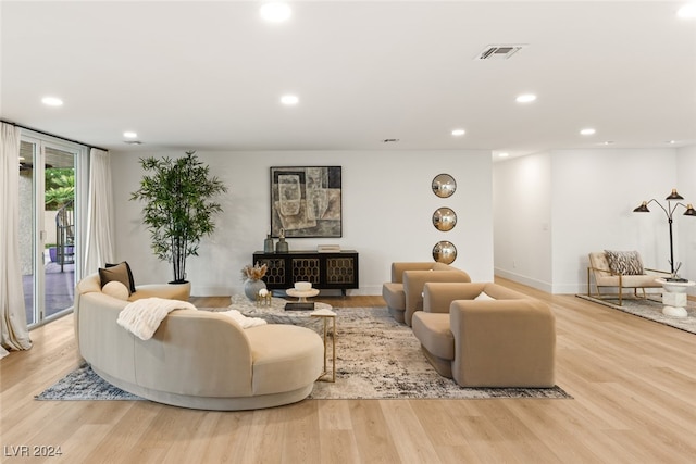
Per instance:
[[[646,267],[669,269],[667,216],[655,204],[651,213],[637,214],[633,209],[652,198],[664,204],[672,188],[695,201],[695,166],[694,147],[679,153],[675,149],[558,150],[496,163],[496,274],[554,293],[575,293],[586,288],[587,253],[604,249],[635,249]],[[549,171],[550,186],[542,180]],[[550,198],[550,206],[545,198]],[[515,201],[530,213],[510,213]],[[543,234],[547,208],[550,235]],[[692,262],[681,274],[694,280],[696,226],[683,211],[674,218],[675,259]],[[520,263],[520,250],[537,256],[537,263]],[[513,261],[517,268],[511,267]]]

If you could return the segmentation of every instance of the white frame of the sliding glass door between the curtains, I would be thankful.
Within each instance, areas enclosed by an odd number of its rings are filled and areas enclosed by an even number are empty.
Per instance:
[[[28,309],[34,314],[34,323],[28,324],[28,328],[35,328],[70,314],[73,306],[69,306],[49,316],[46,315],[46,273],[44,267],[44,250],[49,240],[45,223],[46,211],[46,149],[65,151],[74,155],[75,172],[75,242],[74,242],[74,283],[82,278],[84,237],[86,230],[86,216],[83,211],[87,211],[87,181],[89,179],[89,149],[85,146],[69,142],[55,137],[22,130],[21,140],[34,145],[34,166],[33,166],[33,273],[34,273],[34,308]]]

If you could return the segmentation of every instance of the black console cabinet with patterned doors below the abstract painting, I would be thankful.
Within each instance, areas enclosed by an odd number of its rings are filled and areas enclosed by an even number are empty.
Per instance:
[[[269,290],[287,290],[296,281],[311,281],[316,289],[336,289],[346,294],[358,288],[358,252],[343,250],[331,253],[289,251],[287,253],[253,253],[253,263],[268,266],[265,286]]]

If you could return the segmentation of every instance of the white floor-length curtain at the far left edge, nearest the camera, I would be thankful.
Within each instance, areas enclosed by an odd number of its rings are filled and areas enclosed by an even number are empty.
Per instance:
[[[32,348],[20,267],[20,131],[0,123],[0,358]]]

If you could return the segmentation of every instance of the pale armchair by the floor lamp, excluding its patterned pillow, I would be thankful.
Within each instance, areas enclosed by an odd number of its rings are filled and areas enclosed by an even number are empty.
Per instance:
[[[641,263],[641,267],[642,266]],[[589,253],[589,266],[587,266],[587,296],[601,300],[618,299],[619,305],[621,306],[623,305],[623,300],[626,298],[623,291],[624,289],[633,289],[632,298],[647,298],[645,292],[646,288],[662,288],[662,285],[655,281],[655,279],[670,276],[670,273],[667,271],[650,268],[644,268],[643,271],[643,274],[633,275],[612,272],[609,266],[607,253],[605,251],[594,251]],[[607,290],[610,292],[602,293],[602,289],[610,289]],[[638,294],[638,289],[641,289],[642,294]]]

